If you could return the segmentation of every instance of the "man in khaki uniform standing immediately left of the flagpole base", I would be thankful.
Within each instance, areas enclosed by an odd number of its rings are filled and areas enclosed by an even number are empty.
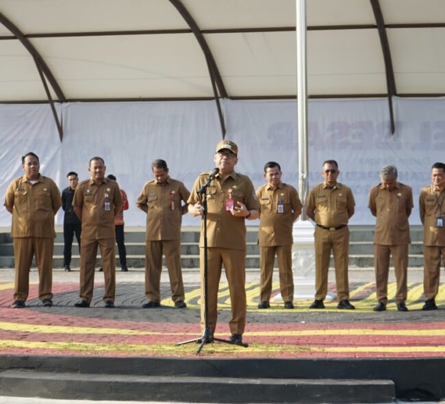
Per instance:
[[[293,186],[281,182],[281,167],[277,162],[264,166],[267,184],[257,189],[259,201],[258,244],[260,249],[259,309],[270,307],[272,273],[275,254],[278,258],[281,297],[286,309],[294,308],[294,278],[292,276],[292,223],[301,214],[301,201]]]

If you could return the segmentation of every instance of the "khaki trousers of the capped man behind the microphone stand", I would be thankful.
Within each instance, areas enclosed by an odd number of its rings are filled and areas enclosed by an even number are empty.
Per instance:
[[[204,249],[199,249],[201,266],[201,329],[205,329],[204,321]],[[207,322],[213,335],[218,319],[218,289],[221,268],[224,264],[225,274],[229,282],[231,301],[230,332],[244,333],[246,326],[246,250],[207,249]]]

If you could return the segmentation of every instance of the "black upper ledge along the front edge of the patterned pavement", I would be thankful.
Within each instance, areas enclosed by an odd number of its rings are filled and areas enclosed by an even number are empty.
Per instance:
[[[396,398],[440,401],[445,398],[445,359],[210,359],[149,357],[73,357],[0,355],[0,371],[86,375],[166,376],[224,379],[392,380]],[[21,388],[26,383],[21,382]],[[39,382],[40,383],[40,382]],[[40,383],[41,384],[41,383]],[[1,383],[1,389],[8,388]],[[227,384],[225,385],[227,388]],[[0,394],[5,394],[0,391]],[[36,393],[34,392],[36,395]],[[144,400],[153,399],[145,396]],[[331,400],[331,399],[330,399]],[[179,399],[181,400],[181,397]],[[216,401],[215,401],[216,402]],[[259,403],[270,402],[266,397]],[[292,401],[297,402],[297,401]],[[382,401],[381,401],[382,402]]]

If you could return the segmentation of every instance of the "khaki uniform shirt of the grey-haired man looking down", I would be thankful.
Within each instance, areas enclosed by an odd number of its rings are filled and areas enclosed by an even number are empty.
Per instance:
[[[408,213],[413,206],[411,187],[400,182],[396,182],[390,191],[382,184],[371,188],[368,207],[372,215],[377,216],[374,244],[409,244]]]

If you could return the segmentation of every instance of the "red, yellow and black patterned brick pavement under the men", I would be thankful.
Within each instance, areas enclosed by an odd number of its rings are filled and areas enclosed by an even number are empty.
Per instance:
[[[185,275],[188,308],[175,309],[168,281],[162,281],[162,307],[143,309],[143,271],[118,273],[116,309],[103,307],[103,275],[97,274],[92,307],[73,307],[78,300],[79,273],[55,273],[54,307],[42,307],[37,299],[36,275],[31,274],[27,308],[10,308],[13,271],[0,270],[0,353],[29,355],[88,355],[119,357],[194,357],[196,344],[176,346],[176,342],[200,335],[199,278]],[[12,277],[12,279],[11,279]],[[274,293],[279,290],[273,285]],[[335,284],[329,283],[335,293]],[[388,288],[394,299],[395,284]],[[296,302],[295,310],[272,303],[258,310],[259,285],[254,277],[246,283],[248,324],[244,340],[249,348],[210,344],[205,357],[445,357],[445,310],[422,312],[422,283],[409,283],[407,306],[396,311],[390,301],[387,312],[372,311],[375,301],[373,281],[351,283],[355,311],[336,309],[336,301],[326,310],[312,311],[310,301]],[[437,304],[445,308],[445,289],[440,288]],[[227,284],[221,283],[216,336],[229,336],[230,299]]]

